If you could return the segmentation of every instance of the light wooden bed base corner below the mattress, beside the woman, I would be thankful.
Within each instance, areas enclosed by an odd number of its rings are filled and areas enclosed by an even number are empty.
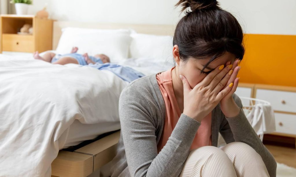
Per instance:
[[[88,176],[110,162],[115,154],[120,131],[69,152],[60,150],[52,162],[52,176]]]

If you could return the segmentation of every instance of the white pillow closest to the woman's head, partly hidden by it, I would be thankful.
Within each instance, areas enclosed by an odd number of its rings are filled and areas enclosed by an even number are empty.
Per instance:
[[[133,33],[130,46],[131,58],[153,58],[173,61],[173,37]]]

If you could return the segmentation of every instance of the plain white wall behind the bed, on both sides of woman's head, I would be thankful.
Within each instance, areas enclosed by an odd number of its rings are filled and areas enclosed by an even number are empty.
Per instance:
[[[219,0],[218,0],[219,1]],[[178,0],[34,0],[29,13],[47,3],[52,19],[80,22],[176,24]],[[246,33],[296,35],[296,0],[220,0]]]

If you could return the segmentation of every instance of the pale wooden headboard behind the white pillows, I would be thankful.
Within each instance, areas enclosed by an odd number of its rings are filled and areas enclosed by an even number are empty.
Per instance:
[[[175,30],[174,25],[159,25],[159,24],[118,24],[118,23],[91,23],[91,22],[68,22],[56,21],[53,26],[52,49],[57,48],[59,38],[62,35],[62,28],[78,27],[78,28],[93,28],[93,29],[133,29],[138,33],[153,34],[153,35],[171,35]]]

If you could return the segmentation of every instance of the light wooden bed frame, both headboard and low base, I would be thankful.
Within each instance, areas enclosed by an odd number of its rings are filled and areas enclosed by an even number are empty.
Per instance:
[[[64,27],[81,27],[94,29],[133,29],[138,33],[153,35],[173,35],[173,25],[149,24],[102,24],[87,22],[61,22],[53,25],[52,49],[57,48],[59,38]],[[120,138],[120,131],[112,133],[102,139],[92,142],[73,152],[60,150],[57,158],[52,162],[52,176],[86,177],[103,165],[110,162],[116,155],[116,147]]]

